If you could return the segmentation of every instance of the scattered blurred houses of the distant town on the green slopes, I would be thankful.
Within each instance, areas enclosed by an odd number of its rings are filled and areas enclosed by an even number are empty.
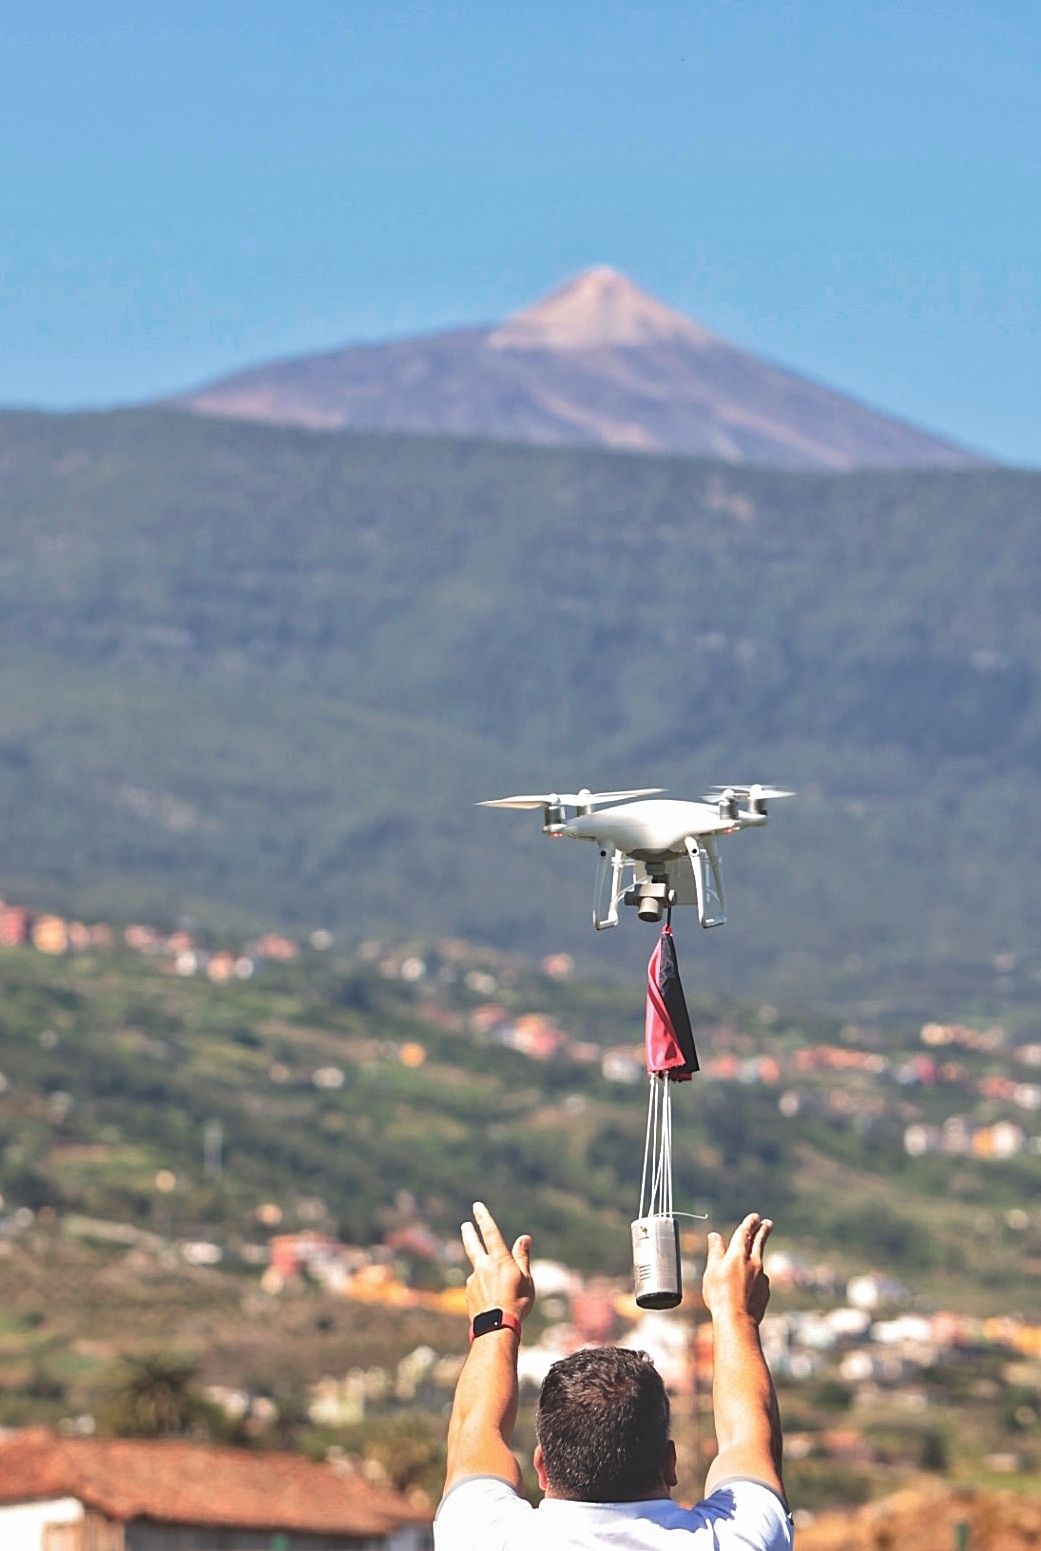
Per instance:
[[[324,954],[332,946],[327,932],[306,943],[281,934],[265,934],[237,948],[202,946],[188,931],[163,932],[144,924],[116,929],[105,923],[85,924],[59,915],[33,915],[19,904],[0,907],[0,949],[36,951],[50,955],[129,951],[152,960],[174,976],[206,976],[214,985],[242,982],[267,965],[292,963],[301,954]],[[411,948],[369,943],[361,962],[379,977],[416,991],[414,1036],[394,1047],[405,1067],[427,1061],[424,1025],[469,1030],[487,1045],[500,1045],[532,1062],[571,1062],[594,1067],[611,1084],[639,1084],[645,1076],[642,1047],[608,1048],[577,1038],[541,1011],[518,1011],[512,999],[500,999],[500,979],[487,955],[465,945],[441,945],[433,957]],[[450,974],[445,974],[450,966]],[[549,980],[574,974],[565,954],[541,960]],[[465,1007],[439,994],[447,980],[465,993]],[[773,1010],[760,1010],[770,1022]],[[794,1050],[756,1053],[745,1048],[740,1031],[729,1025],[701,1030],[712,1053],[704,1058],[701,1078],[759,1086],[776,1093],[777,1112],[787,1120],[830,1112],[850,1123],[886,1123],[898,1128],[909,1159],[929,1152],[971,1155],[984,1163],[1019,1154],[1041,1154],[1041,1134],[1033,1117],[1041,1111],[1041,1042],[1015,1042],[998,1025],[971,1028],[960,1024],[926,1022],[914,1047],[880,1050],[877,1041],[858,1044],[856,1030],[844,1030],[842,1044],[816,1042]],[[980,1064],[982,1062],[982,1064]],[[271,1064],[268,1079],[289,1081]],[[337,1089],[349,1079],[346,1066],[323,1061],[310,1072],[315,1089]],[[825,1079],[825,1081],[824,1081]],[[5,1079],[0,1076],[0,1090]],[[859,1084],[855,1087],[855,1084]],[[943,1112],[943,1095],[960,1103]],[[937,1118],[922,1118],[915,1098],[929,1095]],[[965,1095],[970,1106],[965,1107]],[[1033,1121],[1033,1124],[1032,1124]],[[219,1137],[216,1138],[219,1146]],[[158,1191],[172,1190],[175,1179],[157,1176]],[[299,1204],[296,1218],[301,1213]],[[324,1202],[310,1205],[321,1224]],[[464,1314],[464,1266],[458,1239],[433,1231],[414,1200],[399,1196],[396,1222],[375,1244],[348,1244],[321,1227],[285,1225],[278,1200],[258,1202],[251,1242],[234,1249],[209,1239],[183,1239],[177,1253],[189,1266],[237,1261],[271,1300],[293,1298],[309,1286],[358,1304]],[[16,1239],[33,1228],[34,1213],[16,1208],[0,1219],[0,1235]],[[1005,1227],[1025,1230],[1025,1208],[1010,1208]],[[160,1249],[161,1236],[130,1224],[88,1219],[68,1222],[67,1230],[84,1238],[116,1236],[143,1250]],[[560,1259],[538,1259],[540,1318],[521,1352],[521,1379],[537,1385],[560,1356],[590,1343],[621,1342],[648,1351],[680,1404],[695,1404],[711,1382],[711,1339],[697,1284],[701,1238],[697,1228],[683,1231],[687,1284],[681,1315],[644,1314],[636,1307],[624,1278],[583,1275]],[[422,1275],[416,1269],[424,1267]],[[970,1317],[943,1307],[926,1307],[920,1295],[884,1269],[864,1264],[853,1275],[827,1261],[804,1261],[797,1255],[770,1255],[768,1272],[779,1294],[776,1312],[765,1326],[771,1365],[783,1385],[799,1387],[835,1377],[859,1402],[884,1394],[900,1396],[904,1407],[925,1405],[922,1376],[937,1365],[957,1363],[967,1352],[988,1352],[1008,1363],[1041,1359],[1041,1323],[1013,1311]],[[692,1317],[693,1315],[693,1317]],[[422,1401],[444,1405],[459,1371],[462,1343],[436,1349],[422,1343],[393,1366],[371,1365],[315,1382],[307,1411],[315,1424],[344,1427],[388,1404]],[[254,1424],[270,1421],[271,1402],[245,1388],[211,1387],[209,1399],[228,1416]],[[918,1402],[915,1402],[915,1396]],[[814,1452],[836,1459],[869,1461],[870,1446],[855,1422],[856,1408],[842,1425],[814,1433],[797,1428],[788,1436],[793,1458]],[[90,1416],[74,1428],[87,1436]],[[988,1456],[994,1472],[1019,1469],[1015,1450]]]

